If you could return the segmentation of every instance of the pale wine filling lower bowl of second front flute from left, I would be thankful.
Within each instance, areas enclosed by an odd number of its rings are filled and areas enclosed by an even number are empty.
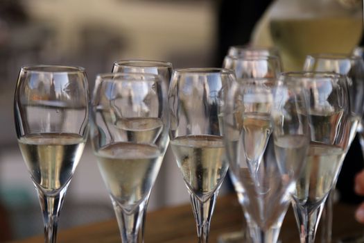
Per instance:
[[[148,196],[163,159],[157,146],[128,142],[104,146],[96,157],[107,190],[129,210]]]

